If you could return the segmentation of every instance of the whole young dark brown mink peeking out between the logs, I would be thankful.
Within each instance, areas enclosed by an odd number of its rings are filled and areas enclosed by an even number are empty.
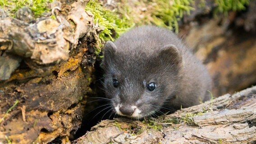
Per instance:
[[[206,67],[171,31],[136,27],[104,49],[105,94],[122,116],[142,118],[210,99]]]

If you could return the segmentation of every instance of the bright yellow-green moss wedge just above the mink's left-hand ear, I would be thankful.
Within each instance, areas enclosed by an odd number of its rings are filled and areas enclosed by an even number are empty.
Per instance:
[[[99,37],[103,41],[113,41],[124,31],[134,26],[134,23],[123,17],[123,15],[105,9],[98,0],[90,0],[85,10],[94,14],[94,23],[99,24],[102,29]]]

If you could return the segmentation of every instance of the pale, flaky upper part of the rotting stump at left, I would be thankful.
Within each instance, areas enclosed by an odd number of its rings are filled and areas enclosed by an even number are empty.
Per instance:
[[[22,59],[38,73],[45,72],[46,69],[40,68],[47,64],[68,60],[69,52],[78,45],[78,39],[85,36],[93,24],[93,15],[84,11],[87,2],[88,0],[81,0],[70,5],[53,2],[51,15],[56,18],[37,18],[34,23],[27,23],[27,17],[16,19],[2,16],[0,80],[9,79]],[[64,12],[64,9],[69,10],[69,13]]]

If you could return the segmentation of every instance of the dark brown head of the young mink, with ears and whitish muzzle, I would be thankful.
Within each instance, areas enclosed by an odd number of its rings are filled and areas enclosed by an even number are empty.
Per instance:
[[[107,41],[103,59],[106,97],[119,115],[150,116],[174,96],[181,65],[175,45]]]

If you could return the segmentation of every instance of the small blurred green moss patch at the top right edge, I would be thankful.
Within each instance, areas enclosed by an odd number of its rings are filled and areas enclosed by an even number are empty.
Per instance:
[[[249,1],[250,0],[215,0],[215,4],[217,4],[215,14],[228,14],[229,10],[244,10],[246,9],[245,6],[249,4]]]

